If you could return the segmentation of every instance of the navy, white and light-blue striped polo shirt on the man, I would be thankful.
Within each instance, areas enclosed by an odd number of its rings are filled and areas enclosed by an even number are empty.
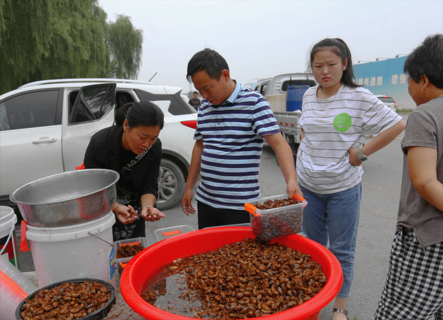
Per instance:
[[[244,210],[260,198],[258,171],[263,136],[280,134],[269,103],[257,91],[235,86],[221,105],[204,99],[194,139],[203,139],[196,199],[214,208]]]

